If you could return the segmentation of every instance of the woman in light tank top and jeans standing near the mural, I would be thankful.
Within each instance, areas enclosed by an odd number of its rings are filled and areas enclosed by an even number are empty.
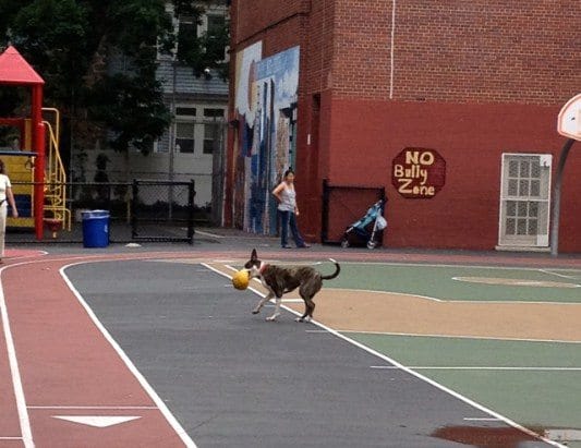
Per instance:
[[[278,215],[280,218],[280,244],[283,249],[290,249],[289,245],[289,227],[296,247],[311,247],[306,244],[299,232],[296,217],[299,207],[296,207],[296,192],[294,191],[294,171],[288,169],[285,171],[282,182],[280,182],[273,194],[278,201]]]

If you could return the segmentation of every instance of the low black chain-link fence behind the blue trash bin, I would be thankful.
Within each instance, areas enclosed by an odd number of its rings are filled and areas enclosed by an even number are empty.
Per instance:
[[[27,195],[22,192],[33,192],[35,184],[26,182],[12,182],[12,184],[14,191],[21,192],[15,194],[16,206],[21,209],[21,204],[32,202],[32,197],[29,195],[26,197]],[[41,242],[82,243],[83,211],[89,210],[109,213],[110,243],[135,241],[193,243],[195,226],[207,226],[211,221],[211,206],[199,207],[195,204],[193,180],[47,183],[43,186],[46,192],[44,216],[46,228]],[[66,192],[65,203],[59,207],[51,206],[50,192],[63,187]],[[61,213],[63,208],[68,210],[64,215]],[[31,211],[20,215],[19,219],[9,221],[7,243],[38,242]],[[53,226],[55,221],[58,223],[57,227]]]

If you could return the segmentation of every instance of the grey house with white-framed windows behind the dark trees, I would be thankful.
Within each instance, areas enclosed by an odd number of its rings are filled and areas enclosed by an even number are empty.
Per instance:
[[[171,13],[172,3],[167,3]],[[175,32],[182,26],[195,27],[197,35],[211,33],[214,26],[223,26],[228,8],[226,0],[207,7],[201,23],[192,17],[179,17]],[[228,58],[225,49],[225,59]],[[124,55],[111,57],[108,70],[123,72],[130,66]],[[97,147],[85,155],[86,181],[96,173],[96,159],[106,157],[110,182],[126,182],[134,178],[149,180],[195,181],[195,204],[204,207],[221,205],[223,184],[223,155],[226,146],[226,116],[228,108],[228,82],[214,70],[195,75],[192,68],[178,62],[170,55],[158,55],[157,80],[161,83],[164,102],[173,120],[167,132],[144,156],[133,149],[119,154],[107,147]],[[183,201],[185,201],[184,198]],[[221,219],[218,215],[218,221]]]

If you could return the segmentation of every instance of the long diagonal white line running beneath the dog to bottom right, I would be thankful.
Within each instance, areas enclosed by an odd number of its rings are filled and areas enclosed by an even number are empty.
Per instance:
[[[218,274],[218,275],[220,275],[222,277],[229,278],[229,276],[227,274],[223,274],[222,271],[209,266],[208,264],[202,263],[202,266],[207,267],[208,269],[215,271],[216,274]],[[251,290],[252,292],[254,292],[255,294],[257,294],[257,295],[259,295],[262,298],[265,296],[265,294],[263,294],[262,292],[255,290],[254,288],[249,288],[249,290]],[[300,316],[301,315],[301,313],[296,313],[295,311],[289,308],[288,306],[281,305],[281,307],[283,310],[286,310],[287,312],[295,315],[295,316]],[[547,437],[545,437],[545,436],[543,436],[541,434],[537,434],[537,433],[535,433],[535,432],[533,432],[533,431],[531,431],[531,429],[529,429],[529,428],[526,428],[526,427],[524,427],[522,425],[519,425],[517,422],[513,422],[512,420],[499,414],[498,412],[495,412],[492,409],[488,409],[488,408],[484,407],[483,404],[480,404],[476,401],[473,401],[470,398],[464,397],[463,395],[461,395],[461,393],[459,393],[459,392],[457,392],[457,391],[455,391],[455,390],[452,390],[452,389],[450,389],[450,388],[448,388],[448,387],[435,382],[434,379],[428,378],[427,376],[424,376],[424,375],[413,371],[410,367],[404,366],[403,364],[398,363],[396,360],[394,360],[394,359],[391,359],[391,358],[389,358],[389,356],[387,356],[387,355],[385,355],[383,353],[379,353],[378,351],[376,351],[376,350],[374,350],[374,349],[372,349],[372,348],[370,348],[367,346],[364,346],[363,343],[358,342],[354,339],[351,339],[351,338],[349,338],[349,337],[347,337],[344,335],[341,335],[339,331],[336,331],[336,330],[334,330],[330,327],[327,327],[327,326],[325,326],[325,325],[323,325],[323,324],[320,324],[320,323],[318,323],[318,322],[316,322],[314,319],[311,320],[311,324],[316,325],[317,327],[319,327],[319,328],[324,329],[325,331],[336,336],[337,338],[342,339],[343,341],[347,341],[347,342],[349,342],[349,343],[351,343],[351,344],[353,344],[353,346],[366,351],[367,353],[370,353],[370,354],[372,354],[374,356],[377,356],[377,358],[379,358],[379,359],[392,364],[395,367],[398,367],[399,370],[401,370],[403,372],[407,372],[408,374],[410,374],[412,376],[415,376],[416,378],[429,384],[431,386],[433,386],[433,387],[435,387],[435,388],[437,388],[437,389],[450,395],[451,397],[455,397],[456,399],[458,399],[460,401],[463,401],[464,403],[467,403],[467,404],[469,404],[469,405],[471,405],[471,407],[473,407],[475,409],[479,409],[480,411],[482,411],[482,412],[484,412],[486,414],[489,414],[491,416],[493,416],[495,419],[498,419],[499,421],[504,422],[505,424],[507,424],[507,425],[509,425],[509,426],[511,426],[511,427],[513,427],[513,428],[516,428],[516,429],[518,429],[518,431],[520,431],[520,432],[522,432],[522,433],[524,433],[524,434],[526,434],[526,435],[529,435],[531,437],[534,437],[534,438],[536,438],[538,440],[542,440],[542,441],[544,441],[544,443],[546,443],[548,445],[552,445],[554,447],[567,448],[565,445],[561,445],[561,444],[559,444],[557,441],[550,440],[550,439],[548,439]],[[268,324],[266,324],[266,325],[268,325]]]

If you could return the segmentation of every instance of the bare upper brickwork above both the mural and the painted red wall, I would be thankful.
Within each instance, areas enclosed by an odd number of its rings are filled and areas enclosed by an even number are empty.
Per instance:
[[[580,16],[578,0],[233,0],[232,48],[301,45],[303,92],[554,106],[581,83]]]

